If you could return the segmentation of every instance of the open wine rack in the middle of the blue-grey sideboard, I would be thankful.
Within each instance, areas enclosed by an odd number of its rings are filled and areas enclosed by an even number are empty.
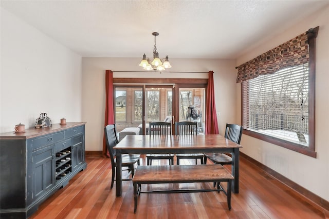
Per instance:
[[[72,172],[72,147],[56,153],[56,183]]]

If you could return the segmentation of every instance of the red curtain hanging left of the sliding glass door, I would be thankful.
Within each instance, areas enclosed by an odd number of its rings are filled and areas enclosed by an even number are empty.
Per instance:
[[[104,127],[109,124],[114,124],[114,112],[113,112],[113,71],[106,70],[105,71],[105,124]],[[104,156],[109,157],[109,153],[106,149],[106,142],[105,142],[105,133],[103,138],[103,152]]]

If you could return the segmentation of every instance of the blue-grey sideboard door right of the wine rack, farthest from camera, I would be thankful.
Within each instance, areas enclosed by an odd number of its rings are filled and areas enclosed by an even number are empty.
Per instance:
[[[84,135],[72,137],[72,168],[84,163]]]

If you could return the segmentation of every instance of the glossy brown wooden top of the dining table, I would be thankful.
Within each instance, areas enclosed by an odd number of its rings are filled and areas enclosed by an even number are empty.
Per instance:
[[[241,148],[219,134],[208,135],[126,135],[114,149]]]

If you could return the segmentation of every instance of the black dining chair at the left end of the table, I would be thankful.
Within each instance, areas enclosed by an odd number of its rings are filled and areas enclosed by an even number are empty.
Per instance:
[[[112,182],[111,189],[113,188],[114,180],[115,180],[115,169],[116,169],[116,151],[113,148],[116,146],[119,141],[117,137],[117,132],[115,128],[115,124],[107,125],[104,128],[105,138],[106,138],[106,147],[109,152],[109,156],[111,157],[111,166],[112,166]],[[140,164],[139,162],[140,155],[139,154],[122,154],[122,167],[127,167],[127,169],[122,169],[123,171],[131,172],[132,177],[135,173],[135,164]],[[125,179],[131,181],[131,179]]]

